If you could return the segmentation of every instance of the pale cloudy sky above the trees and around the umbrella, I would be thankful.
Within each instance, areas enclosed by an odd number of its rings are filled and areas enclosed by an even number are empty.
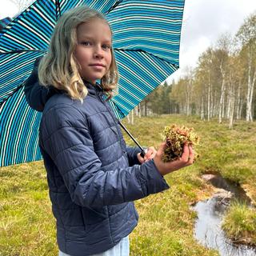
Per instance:
[[[1,0],[0,19],[13,17],[18,8]],[[234,36],[248,15],[256,11],[256,0],[186,0],[180,44],[180,69],[167,79],[176,81],[187,68],[197,66],[198,57],[214,46],[222,34]]]

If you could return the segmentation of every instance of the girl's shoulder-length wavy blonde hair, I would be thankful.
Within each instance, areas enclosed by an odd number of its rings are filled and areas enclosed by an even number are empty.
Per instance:
[[[43,86],[54,86],[58,90],[64,90],[70,98],[79,99],[81,102],[88,94],[88,90],[78,72],[79,65],[74,58],[74,50],[78,43],[78,26],[92,18],[102,19],[109,25],[101,13],[88,6],[75,7],[62,14],[50,39],[48,53],[38,66],[38,78]],[[118,68],[112,46],[111,53],[110,68],[101,79],[102,89],[108,98],[111,98],[113,91],[118,89]]]

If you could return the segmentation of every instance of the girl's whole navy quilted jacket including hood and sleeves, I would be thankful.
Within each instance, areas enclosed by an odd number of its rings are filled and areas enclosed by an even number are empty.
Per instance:
[[[169,187],[153,161],[139,165],[139,149],[126,146],[100,86],[86,86],[83,103],[53,88],[47,92],[35,69],[25,87],[30,106],[44,108],[39,146],[58,246],[72,256],[116,245],[137,225],[133,201]]]

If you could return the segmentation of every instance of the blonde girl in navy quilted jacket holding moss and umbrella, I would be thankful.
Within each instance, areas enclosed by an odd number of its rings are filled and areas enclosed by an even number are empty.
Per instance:
[[[30,106],[43,109],[39,146],[59,255],[129,255],[128,235],[138,222],[133,201],[168,189],[163,176],[193,163],[187,145],[182,158],[168,163],[162,162],[164,144],[145,158],[126,146],[103,99],[117,83],[106,19],[86,6],[63,14],[25,88]]]

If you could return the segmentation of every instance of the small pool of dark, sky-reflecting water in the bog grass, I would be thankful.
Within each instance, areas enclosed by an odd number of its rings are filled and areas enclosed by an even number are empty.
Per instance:
[[[219,185],[220,183],[225,186],[228,183],[222,179],[216,178],[214,181],[218,183],[219,188],[223,188]],[[195,223],[195,238],[204,246],[218,250],[221,256],[256,256],[256,248],[235,246],[225,237],[221,222],[223,214],[229,206],[231,195],[234,194],[238,200],[250,204],[250,198],[246,197],[242,188],[228,184],[225,189],[226,191],[223,190],[222,194],[216,194],[213,198],[198,202],[193,207],[198,213],[198,219]]]

